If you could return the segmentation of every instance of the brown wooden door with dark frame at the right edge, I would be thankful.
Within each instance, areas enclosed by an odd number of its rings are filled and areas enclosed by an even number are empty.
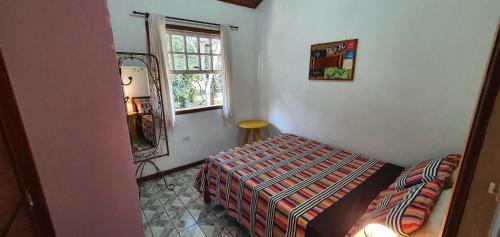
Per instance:
[[[497,210],[491,183],[500,185],[500,34],[491,54],[444,236],[486,237]],[[499,196],[500,197],[500,196]]]

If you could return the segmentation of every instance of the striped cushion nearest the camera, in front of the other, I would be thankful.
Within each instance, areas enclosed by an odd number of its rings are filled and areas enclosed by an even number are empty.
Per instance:
[[[422,227],[443,185],[438,179],[385,196],[381,193],[346,236],[354,236],[372,223],[385,225],[400,236],[409,236]]]

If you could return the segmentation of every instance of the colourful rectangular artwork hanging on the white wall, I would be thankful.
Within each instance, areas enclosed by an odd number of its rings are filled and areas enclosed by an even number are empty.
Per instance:
[[[353,80],[358,40],[311,46],[309,80]]]

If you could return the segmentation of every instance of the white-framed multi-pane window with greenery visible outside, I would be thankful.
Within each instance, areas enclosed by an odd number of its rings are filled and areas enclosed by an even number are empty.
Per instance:
[[[217,31],[182,29],[167,26],[168,67],[173,76],[176,112],[219,109],[223,85],[220,35]]]

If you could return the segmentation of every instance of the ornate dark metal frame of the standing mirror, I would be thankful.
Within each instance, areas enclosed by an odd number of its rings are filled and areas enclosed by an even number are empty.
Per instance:
[[[132,83],[132,80],[130,80],[127,83],[124,83],[123,79],[122,79],[121,67],[123,66],[123,63],[126,60],[130,60],[130,61],[138,60],[146,66],[147,73],[148,73],[148,80],[151,80],[151,81],[148,81],[148,83],[150,86],[154,85],[154,89],[156,90],[156,93],[158,94],[157,104],[155,106],[157,106],[157,109],[160,110],[160,131],[159,131],[160,134],[158,136],[156,135],[156,123],[154,121],[155,116],[153,113],[152,117],[153,117],[153,126],[155,126],[155,138],[156,137],[158,137],[158,138],[155,139],[154,147],[144,150],[144,151],[147,151],[144,154],[137,155],[135,153],[132,153],[133,158],[134,158],[134,163],[147,162],[147,161],[150,161],[150,160],[153,160],[156,158],[168,156],[170,154],[170,149],[169,149],[169,145],[168,145],[168,136],[167,136],[167,129],[166,129],[166,124],[165,124],[165,112],[164,112],[163,98],[162,98],[163,91],[161,89],[161,77],[160,77],[160,71],[159,71],[159,67],[158,67],[158,65],[159,65],[158,58],[153,54],[135,53],[135,52],[116,52],[116,56],[117,56],[117,62],[118,62],[118,69],[119,69],[119,73],[120,73],[119,79],[120,79],[120,84],[122,85],[122,92],[124,95],[124,103],[125,104],[128,102],[129,98],[125,98],[125,93],[123,91],[123,89],[124,89],[123,87],[130,85]],[[150,83],[150,82],[152,82],[152,83]],[[151,100],[151,103],[152,102],[153,101]],[[151,106],[153,107],[154,105],[151,104]],[[166,153],[165,154],[162,154],[163,153],[162,150],[159,149],[160,142],[163,140],[162,138],[164,138],[165,143],[166,143],[165,144],[166,145]],[[132,138],[130,138],[130,143],[132,145]],[[151,151],[149,151],[149,150],[151,150]]]

